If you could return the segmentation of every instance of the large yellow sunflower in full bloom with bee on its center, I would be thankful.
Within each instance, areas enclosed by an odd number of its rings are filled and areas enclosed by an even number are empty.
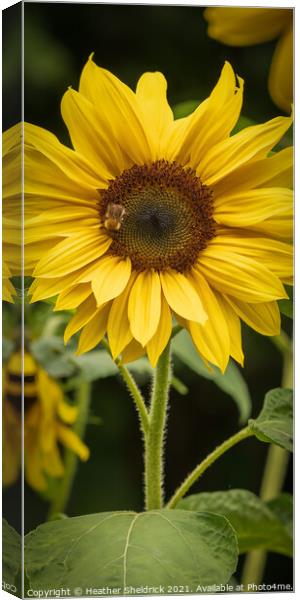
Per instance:
[[[209,98],[174,120],[161,73],[136,92],[90,58],[61,110],[74,149],[25,124],[25,262],[31,301],[75,310],[78,353],[107,335],[124,362],[153,366],[185,327],[200,355],[243,364],[240,319],[277,335],[292,276],[291,125],[230,136],[243,81],[226,63]]]

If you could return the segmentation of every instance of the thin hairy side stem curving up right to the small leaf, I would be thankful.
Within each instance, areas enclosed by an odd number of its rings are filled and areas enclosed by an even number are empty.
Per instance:
[[[206,458],[199,464],[195,469],[187,476],[184,482],[179,486],[176,490],[175,494],[172,496],[171,500],[169,500],[167,504],[167,508],[175,508],[179,500],[185,496],[185,494],[189,491],[192,485],[203,475],[203,473],[208,469],[222,454],[225,454],[227,450],[245,440],[248,437],[251,437],[253,433],[251,432],[249,426],[241,429],[238,433],[235,433],[228,440],[225,440],[223,444],[217,446],[213,452],[208,454]]]

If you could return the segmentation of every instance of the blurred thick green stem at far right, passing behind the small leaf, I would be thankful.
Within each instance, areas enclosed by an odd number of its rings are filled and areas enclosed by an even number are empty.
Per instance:
[[[293,355],[291,340],[286,333],[282,332],[280,336],[272,338],[272,341],[283,355],[282,387],[292,388]],[[262,500],[271,500],[281,492],[288,462],[289,453],[287,450],[274,444],[269,447],[260,488],[260,497]],[[266,562],[267,553],[264,550],[254,550],[247,554],[242,573],[242,583],[244,584],[245,592],[248,591],[250,583],[258,585],[262,582]]]

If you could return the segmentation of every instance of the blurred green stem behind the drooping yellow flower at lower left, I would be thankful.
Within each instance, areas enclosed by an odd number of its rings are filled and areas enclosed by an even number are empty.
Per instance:
[[[89,417],[90,396],[91,384],[87,382],[81,383],[76,390],[76,406],[78,406],[78,416],[73,427],[74,433],[76,433],[80,439],[84,437],[86,430],[87,420]],[[78,465],[78,458],[72,450],[66,450],[64,465],[65,473],[55,494],[55,498],[50,505],[48,520],[51,520],[57,514],[64,513],[67,507]]]

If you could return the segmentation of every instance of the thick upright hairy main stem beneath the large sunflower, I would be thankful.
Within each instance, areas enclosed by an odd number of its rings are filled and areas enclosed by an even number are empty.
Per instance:
[[[171,382],[170,342],[161,354],[154,373],[150,424],[145,444],[146,510],[163,506],[163,445]]]

